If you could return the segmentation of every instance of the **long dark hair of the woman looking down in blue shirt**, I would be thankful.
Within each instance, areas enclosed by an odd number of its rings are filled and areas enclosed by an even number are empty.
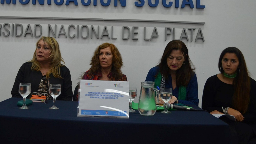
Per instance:
[[[189,59],[188,48],[184,42],[180,40],[172,40],[167,44],[163,56],[157,65],[159,71],[165,79],[168,79],[169,67],[167,66],[167,58],[170,56],[172,50],[180,50],[185,58],[184,64],[176,72],[176,85],[187,86],[191,78],[192,70],[194,69],[191,68],[191,65],[193,66],[193,64]]]

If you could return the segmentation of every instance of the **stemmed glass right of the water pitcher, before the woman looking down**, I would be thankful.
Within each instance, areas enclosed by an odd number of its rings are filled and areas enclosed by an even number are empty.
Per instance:
[[[172,98],[172,89],[171,88],[161,88],[160,97],[164,100],[164,111],[161,113],[171,113],[167,109],[167,103]]]

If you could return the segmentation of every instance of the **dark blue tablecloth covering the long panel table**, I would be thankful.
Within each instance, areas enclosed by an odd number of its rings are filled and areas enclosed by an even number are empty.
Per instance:
[[[205,111],[88,118],[77,117],[77,102],[56,101],[58,110],[49,109],[52,101],[34,102],[22,110],[19,100],[0,102],[1,143],[230,143],[228,124]]]

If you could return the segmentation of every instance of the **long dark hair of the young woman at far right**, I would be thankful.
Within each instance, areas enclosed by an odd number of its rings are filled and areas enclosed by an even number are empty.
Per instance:
[[[226,53],[234,53],[239,61],[237,76],[233,81],[235,92],[232,98],[232,105],[234,109],[244,114],[247,112],[248,105],[250,102],[251,84],[249,72],[247,70],[245,59],[242,52],[236,47],[228,47],[224,49],[220,54],[218,66],[221,73],[223,73],[222,59]]]

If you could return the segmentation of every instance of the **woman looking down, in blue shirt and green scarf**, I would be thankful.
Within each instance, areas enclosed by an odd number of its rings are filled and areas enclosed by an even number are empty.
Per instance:
[[[172,88],[170,104],[198,106],[197,78],[191,65],[186,45],[173,40],[167,44],[159,64],[150,69],[145,81],[154,81],[155,88]],[[163,101],[160,100],[160,104]]]

